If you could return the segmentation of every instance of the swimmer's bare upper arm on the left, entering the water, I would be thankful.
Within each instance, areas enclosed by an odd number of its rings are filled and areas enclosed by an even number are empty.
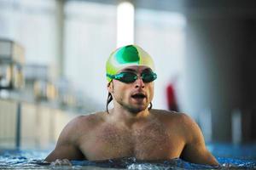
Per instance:
[[[79,117],[69,122],[62,130],[60,137],[49,156],[44,161],[55,161],[57,159],[81,160],[84,159],[83,153],[79,150]]]

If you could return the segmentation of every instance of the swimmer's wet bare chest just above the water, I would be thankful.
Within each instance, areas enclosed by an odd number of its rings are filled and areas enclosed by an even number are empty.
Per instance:
[[[101,127],[80,148],[89,160],[135,156],[141,160],[171,159],[180,156],[183,141],[166,127],[149,124],[134,129]]]

